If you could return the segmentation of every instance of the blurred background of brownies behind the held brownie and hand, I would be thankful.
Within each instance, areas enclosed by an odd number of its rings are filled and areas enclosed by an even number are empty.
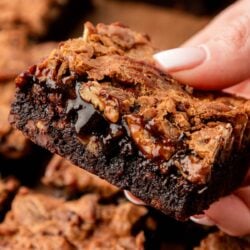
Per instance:
[[[117,188],[32,144],[10,127],[8,113],[15,77],[46,57],[59,41],[81,36],[85,21],[119,21],[147,33],[156,48],[169,49],[181,45],[232,2],[0,0],[0,249],[188,250],[216,231],[129,203]],[[58,209],[61,216],[55,217]],[[100,217],[85,216],[93,211],[104,212]],[[52,222],[60,233],[44,229]],[[53,247],[46,235],[54,237]],[[202,244],[197,250],[247,249],[225,248],[223,244],[241,242],[221,232]]]

